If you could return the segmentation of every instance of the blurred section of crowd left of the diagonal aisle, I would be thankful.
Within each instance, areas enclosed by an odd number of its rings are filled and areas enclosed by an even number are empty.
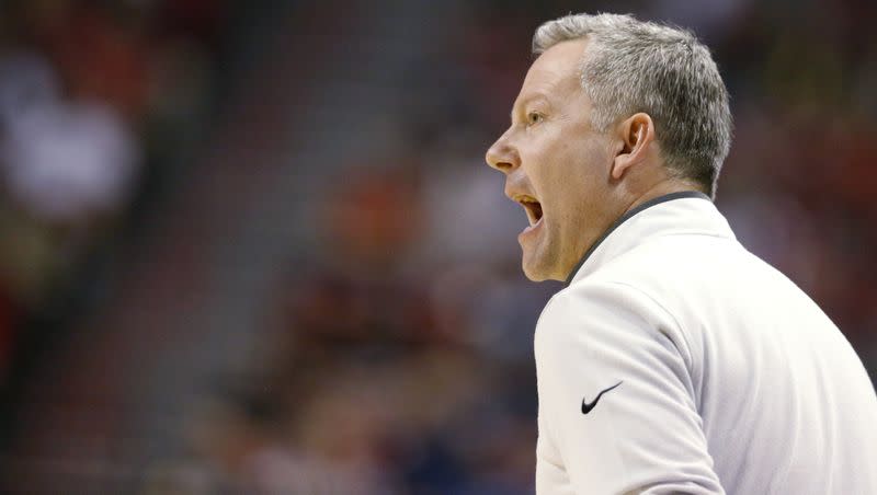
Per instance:
[[[39,339],[24,333],[75,312],[172,180],[208,111],[220,15],[200,0],[4,2],[0,383]]]

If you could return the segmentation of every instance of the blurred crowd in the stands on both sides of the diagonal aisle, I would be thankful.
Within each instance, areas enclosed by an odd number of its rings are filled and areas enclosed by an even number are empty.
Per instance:
[[[295,228],[314,234],[271,280],[257,348],[214,370],[180,419],[182,447],[141,459],[136,492],[533,492],[532,337],[559,285],[520,273],[526,219],[482,156],[508,126],[533,30],[571,10],[670,20],[706,41],[736,118],[719,209],[877,376],[877,5],[451,3],[434,20],[445,35],[399,73],[407,104],[386,116],[398,133],[301,192],[308,225]],[[136,239],[150,181],[175,180],[224,77],[217,5],[21,1],[2,16],[0,381],[26,323],[88,291],[103,248]]]

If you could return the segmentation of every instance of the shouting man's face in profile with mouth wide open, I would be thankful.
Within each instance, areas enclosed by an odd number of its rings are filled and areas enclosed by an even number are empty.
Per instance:
[[[613,142],[591,126],[581,89],[585,39],[560,43],[531,66],[512,125],[487,152],[505,174],[505,195],[522,204],[529,227],[517,237],[531,280],[565,280],[617,218],[610,168]]]

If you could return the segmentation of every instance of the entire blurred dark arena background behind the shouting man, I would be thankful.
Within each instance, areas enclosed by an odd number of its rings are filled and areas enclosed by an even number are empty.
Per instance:
[[[527,494],[557,284],[483,153],[542,22],[693,28],[718,206],[877,371],[877,3],[0,4],[0,492]]]

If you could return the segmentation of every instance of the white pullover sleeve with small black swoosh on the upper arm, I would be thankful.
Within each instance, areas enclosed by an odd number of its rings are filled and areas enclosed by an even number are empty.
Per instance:
[[[613,283],[569,287],[543,312],[535,353],[543,474],[566,470],[576,494],[725,493],[682,330],[651,298]]]

